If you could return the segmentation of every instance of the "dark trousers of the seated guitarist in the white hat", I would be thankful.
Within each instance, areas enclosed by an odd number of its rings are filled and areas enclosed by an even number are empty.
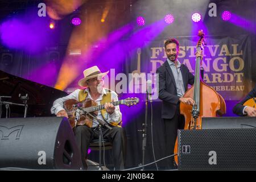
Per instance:
[[[112,150],[114,155],[114,167],[116,170],[125,168],[126,156],[126,134],[122,127],[113,126],[112,130],[101,127],[104,139],[112,142]],[[89,144],[93,139],[98,139],[99,130],[96,128],[89,128],[88,126],[77,126],[75,130],[76,142],[81,151],[82,165],[84,169],[87,168],[86,159],[88,159]]]

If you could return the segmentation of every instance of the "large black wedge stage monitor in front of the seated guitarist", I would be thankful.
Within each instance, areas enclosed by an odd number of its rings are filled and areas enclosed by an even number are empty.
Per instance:
[[[81,169],[65,117],[0,119],[0,169]]]

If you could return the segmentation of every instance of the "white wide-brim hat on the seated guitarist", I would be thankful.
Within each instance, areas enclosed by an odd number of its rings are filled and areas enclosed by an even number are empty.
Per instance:
[[[98,69],[97,66],[90,67],[88,69],[85,69],[84,78],[79,80],[78,84],[79,84],[79,86],[85,87],[85,86],[87,86],[86,81],[89,80],[90,78],[104,77],[108,73],[109,73],[109,71],[107,71],[105,73],[101,73],[100,69]]]

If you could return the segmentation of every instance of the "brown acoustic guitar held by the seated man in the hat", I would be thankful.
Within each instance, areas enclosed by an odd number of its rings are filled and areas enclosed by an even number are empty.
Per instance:
[[[125,100],[119,100],[115,102],[110,102],[114,106],[117,105],[127,105],[127,106],[132,106],[136,105],[139,102],[139,98],[126,98]],[[64,102],[63,104],[64,109],[67,111],[68,114],[68,120],[69,123],[74,129],[76,125],[86,125],[88,127],[92,127],[93,123],[93,117],[91,117],[89,114],[90,113],[94,116],[98,115],[98,110],[105,109],[105,105],[98,105],[97,102],[86,99],[82,102],[76,101],[74,99],[70,99]],[[77,117],[78,114],[78,117]],[[76,121],[76,117],[79,118]],[[112,123],[110,123],[112,124]],[[114,126],[114,124],[113,124]]]

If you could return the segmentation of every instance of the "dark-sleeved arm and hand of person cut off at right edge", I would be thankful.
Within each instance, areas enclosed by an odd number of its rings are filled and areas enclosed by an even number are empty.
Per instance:
[[[245,98],[243,98],[243,100],[238,102],[233,107],[233,113],[240,115],[240,116],[256,117],[256,109],[254,107],[243,105],[247,100],[249,100],[250,98],[254,98],[254,97],[256,97],[256,84],[255,84],[253,90],[251,90],[251,92],[249,92],[247,94],[247,96]]]

